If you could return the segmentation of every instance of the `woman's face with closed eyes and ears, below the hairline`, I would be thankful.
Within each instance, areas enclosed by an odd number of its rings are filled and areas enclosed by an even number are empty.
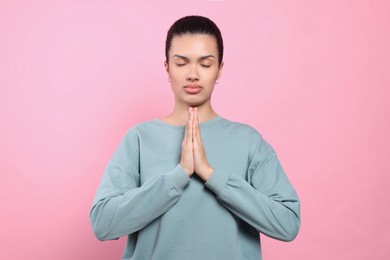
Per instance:
[[[215,38],[205,34],[174,36],[168,55],[165,68],[176,102],[199,106],[208,101],[223,67],[222,62],[218,68]],[[199,88],[188,87],[191,85]]]

